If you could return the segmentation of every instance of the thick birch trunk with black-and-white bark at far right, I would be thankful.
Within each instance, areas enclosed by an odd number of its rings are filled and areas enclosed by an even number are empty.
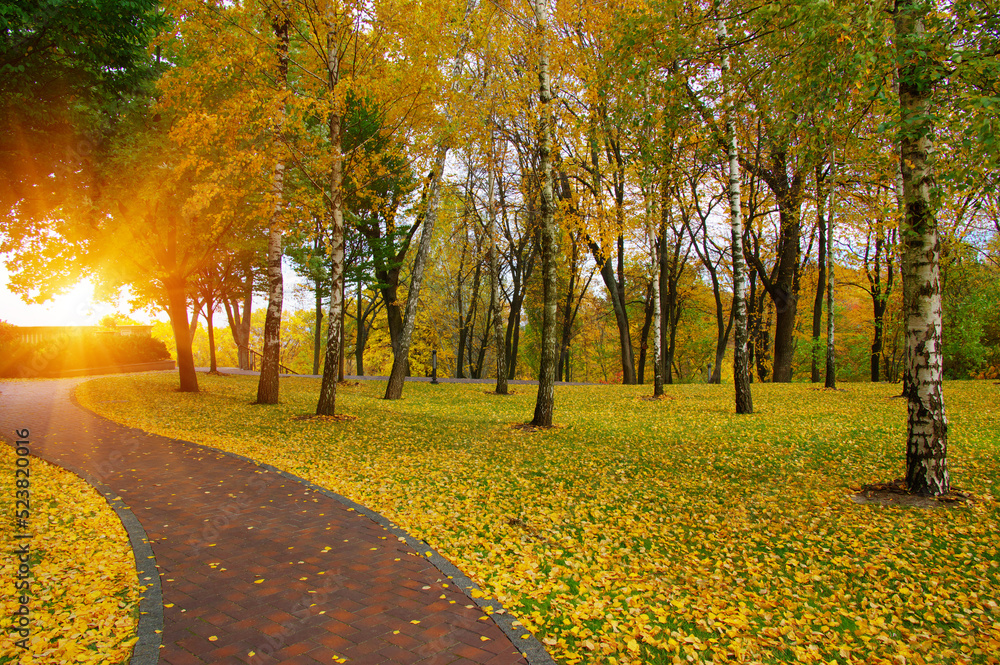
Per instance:
[[[948,421],[944,411],[941,354],[941,246],[932,204],[934,187],[933,80],[938,69],[924,32],[930,5],[897,0],[900,170],[903,220],[903,300],[910,383],[907,398],[906,484],[910,492],[940,496],[950,487]],[[911,55],[914,54],[914,55]]]

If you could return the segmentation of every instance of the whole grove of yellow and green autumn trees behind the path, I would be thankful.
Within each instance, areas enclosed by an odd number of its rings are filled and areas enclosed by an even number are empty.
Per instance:
[[[260,353],[261,404],[321,374],[320,415],[435,350],[540,379],[536,426],[560,380],[731,382],[738,413],[899,381],[909,487],[948,491],[941,381],[1000,373],[989,0],[127,11],[4,14],[0,250],[25,298],[91,275],[166,311],[181,390],[199,319],[200,362]]]

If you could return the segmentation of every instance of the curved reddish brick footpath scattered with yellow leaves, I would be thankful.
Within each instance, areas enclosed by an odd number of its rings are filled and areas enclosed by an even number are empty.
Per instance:
[[[552,662],[384,518],[273,467],[99,417],[73,401],[80,382],[0,382],[0,432],[29,429],[33,455],[124,501],[109,497],[149,585],[132,663]]]

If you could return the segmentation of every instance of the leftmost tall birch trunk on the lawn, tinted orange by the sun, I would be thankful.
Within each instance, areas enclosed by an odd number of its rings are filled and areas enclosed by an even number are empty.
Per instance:
[[[283,92],[288,87],[288,33],[287,14],[280,13],[273,20],[274,36],[278,40],[278,88]],[[276,122],[276,134],[284,129],[284,113]],[[278,142],[278,137],[275,137]],[[267,315],[264,318],[264,350],[260,363],[260,380],[257,383],[257,404],[278,403],[278,370],[281,364],[281,307],[284,299],[284,284],[281,275],[281,228],[280,215],[285,181],[285,163],[281,158],[274,165],[274,179],[271,195],[274,209],[267,233]]]

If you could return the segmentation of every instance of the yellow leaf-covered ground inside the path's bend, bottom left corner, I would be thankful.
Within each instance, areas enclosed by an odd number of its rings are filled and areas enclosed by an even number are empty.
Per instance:
[[[31,458],[28,649],[8,632],[25,542],[13,538],[14,449],[0,443],[0,663],[125,663],[136,641],[139,582],[128,534],[100,494],[76,475]]]

